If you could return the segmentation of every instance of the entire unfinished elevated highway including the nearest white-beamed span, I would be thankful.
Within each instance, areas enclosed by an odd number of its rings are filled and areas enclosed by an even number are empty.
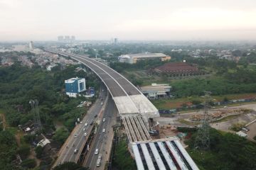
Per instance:
[[[121,115],[137,169],[198,169],[178,140],[151,139],[149,119],[158,118],[159,111],[125,77],[89,57],[53,49],[46,49],[46,51],[71,57],[73,60],[85,64],[102,80],[117,106],[119,115]]]

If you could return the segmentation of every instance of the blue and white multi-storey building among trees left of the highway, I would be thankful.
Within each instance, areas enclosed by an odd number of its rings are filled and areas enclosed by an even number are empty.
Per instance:
[[[84,78],[72,78],[65,80],[65,92],[70,97],[76,97],[79,93],[86,90]]]

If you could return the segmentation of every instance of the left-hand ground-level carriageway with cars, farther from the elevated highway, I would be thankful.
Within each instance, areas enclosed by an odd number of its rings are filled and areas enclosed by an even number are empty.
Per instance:
[[[107,90],[105,89],[104,91],[101,91],[100,98],[95,101],[85,117],[81,120],[82,123],[76,125],[73,131],[70,133],[70,136],[58,152],[58,159],[55,161],[53,167],[58,164],[63,164],[64,162],[78,162],[82,148],[85,145],[90,131],[92,130],[92,125],[90,125],[90,122],[97,119],[96,115],[99,115],[99,113],[103,111],[103,107],[107,101]],[[103,105],[101,105],[102,102],[104,102]],[[87,123],[86,126],[85,123]],[[86,137],[85,132],[87,133]],[[78,135],[77,137],[75,137],[76,134]],[[77,153],[74,153],[75,149],[78,149]]]

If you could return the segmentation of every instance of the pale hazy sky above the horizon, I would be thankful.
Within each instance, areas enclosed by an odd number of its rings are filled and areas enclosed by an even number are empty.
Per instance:
[[[256,40],[256,0],[0,0],[0,41]]]

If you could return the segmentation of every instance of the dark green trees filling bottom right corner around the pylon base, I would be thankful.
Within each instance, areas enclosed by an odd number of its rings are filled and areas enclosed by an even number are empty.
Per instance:
[[[231,133],[221,133],[210,129],[210,149],[194,149],[194,133],[188,144],[188,153],[201,170],[243,169],[256,167],[256,144]]]

